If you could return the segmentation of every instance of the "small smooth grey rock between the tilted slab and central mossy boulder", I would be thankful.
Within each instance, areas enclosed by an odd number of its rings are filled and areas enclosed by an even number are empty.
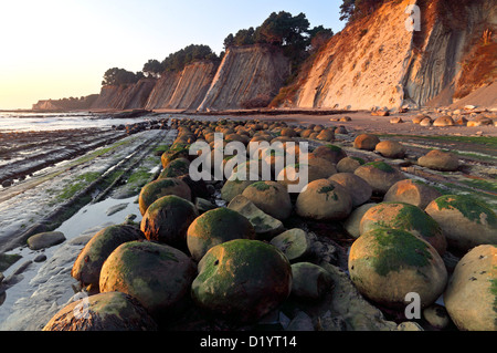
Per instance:
[[[290,262],[304,259],[311,252],[311,241],[307,232],[299,228],[293,228],[271,240],[271,245],[278,248]]]

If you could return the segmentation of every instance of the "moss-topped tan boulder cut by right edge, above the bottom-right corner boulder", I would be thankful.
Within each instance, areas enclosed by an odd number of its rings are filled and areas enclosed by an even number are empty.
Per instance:
[[[467,251],[497,243],[497,216],[485,204],[465,195],[444,195],[425,211],[442,227],[450,247]]]

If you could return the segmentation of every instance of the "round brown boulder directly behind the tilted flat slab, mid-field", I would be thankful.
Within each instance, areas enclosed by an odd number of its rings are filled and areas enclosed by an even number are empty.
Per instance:
[[[292,201],[286,187],[276,181],[257,181],[248,185],[242,193],[265,214],[284,220],[292,214]]]

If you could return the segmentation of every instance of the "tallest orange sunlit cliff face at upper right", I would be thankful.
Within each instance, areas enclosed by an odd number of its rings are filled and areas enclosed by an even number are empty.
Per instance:
[[[406,29],[411,3],[421,9],[421,31]],[[451,104],[464,77],[462,62],[480,45],[485,29],[495,33],[496,8],[495,1],[484,0],[387,2],[328,42],[300,74],[286,105],[370,110]],[[489,62],[484,74],[495,73],[495,60]],[[488,81],[472,82],[467,93]]]

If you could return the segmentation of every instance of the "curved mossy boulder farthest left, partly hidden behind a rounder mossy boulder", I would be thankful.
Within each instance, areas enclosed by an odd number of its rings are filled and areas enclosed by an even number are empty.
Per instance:
[[[120,245],[141,239],[145,235],[133,226],[117,225],[99,230],[77,256],[71,276],[85,285],[98,287],[102,266],[108,256]]]

